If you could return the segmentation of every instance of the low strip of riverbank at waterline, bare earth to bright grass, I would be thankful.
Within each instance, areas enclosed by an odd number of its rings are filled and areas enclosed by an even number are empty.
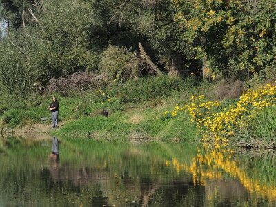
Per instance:
[[[22,137],[86,137],[98,141],[197,140],[195,124],[190,122],[188,114],[164,120],[162,118],[167,109],[166,106],[140,106],[110,112],[108,117],[96,113],[62,121],[59,128],[51,128],[50,123],[34,123],[14,128],[9,133]]]

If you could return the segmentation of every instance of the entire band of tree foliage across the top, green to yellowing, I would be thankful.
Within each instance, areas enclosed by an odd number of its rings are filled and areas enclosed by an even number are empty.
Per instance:
[[[139,41],[169,75],[199,75],[204,68],[213,79],[248,80],[275,73],[274,0],[0,3],[1,21],[8,23],[0,42],[1,81],[10,92],[19,93],[16,85],[36,90],[33,85],[45,87],[52,78],[99,68],[108,83],[116,73],[126,81],[141,67],[135,57]]]

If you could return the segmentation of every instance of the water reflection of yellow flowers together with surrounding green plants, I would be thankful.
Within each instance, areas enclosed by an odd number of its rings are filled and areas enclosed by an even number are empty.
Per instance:
[[[197,152],[197,156],[193,157],[188,165],[181,164],[177,159],[166,160],[165,164],[173,166],[177,173],[180,170],[190,172],[193,175],[194,186],[197,184],[205,186],[205,195],[209,204],[215,199],[233,198],[234,200],[248,197],[250,199],[243,201],[242,206],[248,204],[276,206],[276,170],[273,168],[276,164],[275,157],[266,156],[265,161],[264,156],[258,157],[262,162],[259,162],[257,157],[254,159],[251,157],[245,162],[246,157],[248,158],[247,152],[246,156],[233,159],[228,152],[205,150]],[[256,168],[257,163],[260,164],[259,168]],[[264,174],[264,168],[270,168],[270,170]],[[269,175],[269,172],[272,174]]]

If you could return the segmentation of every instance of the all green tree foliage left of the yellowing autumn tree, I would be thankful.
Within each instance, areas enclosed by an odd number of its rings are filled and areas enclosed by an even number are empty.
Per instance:
[[[166,68],[194,67],[181,61],[185,54],[178,52],[175,8],[170,1],[3,0],[1,3],[1,19],[9,23],[6,40],[0,42],[0,49],[5,51],[1,55],[4,60],[1,72],[17,71],[30,90],[36,90],[33,85],[45,88],[52,78],[67,78],[75,72],[94,72],[99,68],[110,72],[110,81],[116,72],[121,81],[137,77],[138,41],[144,44],[153,61],[160,60]],[[171,44],[172,41],[175,43]],[[5,50],[7,47],[14,49]],[[31,77],[23,76],[26,70],[32,72]],[[11,92],[20,93],[12,83],[5,84]]]

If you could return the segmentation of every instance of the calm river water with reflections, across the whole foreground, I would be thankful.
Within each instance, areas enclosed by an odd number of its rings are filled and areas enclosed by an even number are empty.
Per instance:
[[[0,206],[276,206],[273,151],[57,139],[0,138]]]

